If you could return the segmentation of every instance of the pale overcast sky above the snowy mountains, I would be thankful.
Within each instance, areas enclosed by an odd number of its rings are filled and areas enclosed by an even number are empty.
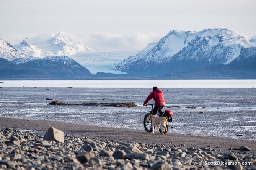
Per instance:
[[[33,44],[61,30],[84,46],[137,51],[170,30],[256,35],[256,0],[1,0],[0,38]]]

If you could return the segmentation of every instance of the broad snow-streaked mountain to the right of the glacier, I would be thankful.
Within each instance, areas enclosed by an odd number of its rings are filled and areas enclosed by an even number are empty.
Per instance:
[[[248,55],[249,54],[249,55]],[[137,75],[163,75],[256,58],[256,45],[228,29],[170,31],[116,69]]]

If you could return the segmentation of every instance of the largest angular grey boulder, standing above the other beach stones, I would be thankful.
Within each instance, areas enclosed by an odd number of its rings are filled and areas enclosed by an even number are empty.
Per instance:
[[[64,143],[64,132],[54,127],[51,127],[48,129],[48,132],[44,135],[44,140]]]

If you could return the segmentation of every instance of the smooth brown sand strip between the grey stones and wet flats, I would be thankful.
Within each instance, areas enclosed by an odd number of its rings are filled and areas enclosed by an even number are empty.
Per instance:
[[[223,152],[232,152],[228,148],[239,148],[240,146],[248,146],[253,149],[251,154],[256,154],[256,141],[248,140],[235,140],[229,138],[218,138],[218,137],[201,137],[201,136],[190,136],[173,134],[169,132],[166,135],[147,133],[145,131],[121,129],[121,128],[110,128],[110,127],[96,127],[88,125],[78,125],[64,122],[55,121],[44,121],[44,120],[26,120],[26,119],[12,119],[0,117],[0,126],[8,127],[11,129],[24,129],[29,131],[39,131],[46,133],[49,127],[55,127],[62,130],[65,135],[79,135],[86,136],[88,138],[95,138],[98,140],[120,140],[123,142],[143,142],[147,144],[166,144],[166,146],[181,146],[193,148],[212,148],[216,151],[220,149]],[[241,152],[241,151],[234,151]]]

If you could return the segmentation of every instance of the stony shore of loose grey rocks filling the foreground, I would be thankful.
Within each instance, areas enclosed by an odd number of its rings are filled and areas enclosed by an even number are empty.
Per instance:
[[[3,128],[0,130],[0,169],[255,170],[255,154],[249,154],[247,151],[251,149],[246,146],[239,149],[241,153],[234,155],[211,148],[102,141],[86,136],[78,138],[64,135],[55,128],[49,128],[44,136]],[[252,165],[211,165],[217,161]]]

